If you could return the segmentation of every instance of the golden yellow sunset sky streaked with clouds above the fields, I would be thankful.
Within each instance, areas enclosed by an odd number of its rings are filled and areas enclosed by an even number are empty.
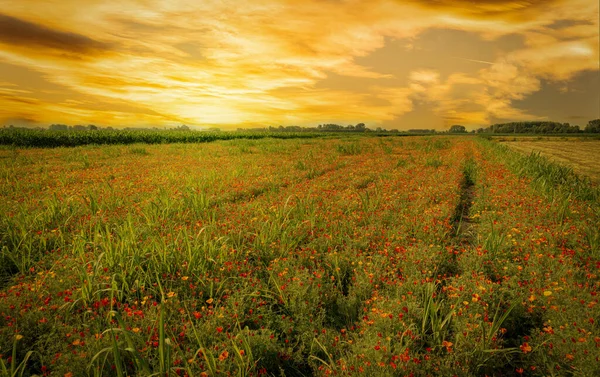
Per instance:
[[[600,117],[598,0],[0,0],[0,126]]]

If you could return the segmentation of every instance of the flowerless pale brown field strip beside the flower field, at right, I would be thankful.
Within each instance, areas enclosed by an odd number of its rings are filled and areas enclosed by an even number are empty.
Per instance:
[[[556,139],[509,138],[504,143],[526,154],[540,153],[553,161],[572,167],[576,173],[589,177],[595,183],[600,183],[600,140]]]

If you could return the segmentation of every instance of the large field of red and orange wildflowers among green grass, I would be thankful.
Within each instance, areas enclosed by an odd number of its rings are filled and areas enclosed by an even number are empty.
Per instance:
[[[475,137],[0,149],[0,376],[600,375],[598,189]]]

